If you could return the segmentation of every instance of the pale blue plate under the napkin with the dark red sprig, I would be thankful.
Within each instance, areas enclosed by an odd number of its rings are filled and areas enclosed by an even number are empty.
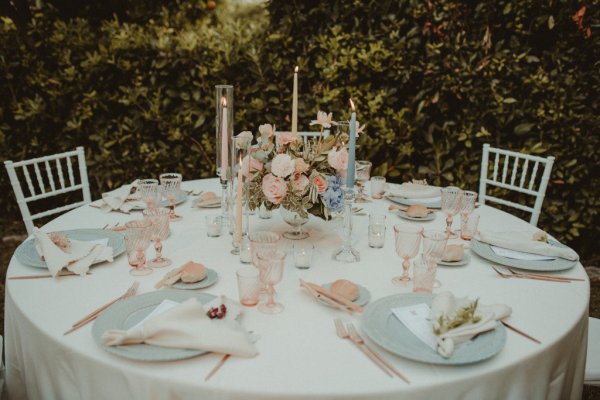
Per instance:
[[[127,330],[133,327],[146,318],[163,300],[181,303],[192,297],[205,304],[216,296],[208,293],[159,290],[121,300],[100,314],[94,322],[92,326],[94,341],[111,354],[137,361],[175,361],[208,353],[205,350],[173,349],[145,343],[126,346],[106,346],[102,343],[104,332],[110,329]]]

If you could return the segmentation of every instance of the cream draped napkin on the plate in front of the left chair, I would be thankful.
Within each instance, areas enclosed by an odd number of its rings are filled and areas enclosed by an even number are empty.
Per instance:
[[[71,239],[68,247],[63,250],[39,228],[34,228],[33,237],[35,248],[40,257],[46,261],[53,277],[56,277],[63,268],[85,275],[94,262],[113,260],[113,249],[102,244]]]

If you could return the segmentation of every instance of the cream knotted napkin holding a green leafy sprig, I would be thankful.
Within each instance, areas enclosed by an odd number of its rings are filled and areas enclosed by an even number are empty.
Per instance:
[[[469,313],[476,306],[472,314]],[[496,321],[508,317],[512,309],[504,304],[483,305],[450,292],[438,294],[431,303],[431,322],[437,333],[437,352],[450,357],[456,345],[496,328]],[[474,317],[474,318],[471,318]],[[453,328],[453,322],[465,323]]]

